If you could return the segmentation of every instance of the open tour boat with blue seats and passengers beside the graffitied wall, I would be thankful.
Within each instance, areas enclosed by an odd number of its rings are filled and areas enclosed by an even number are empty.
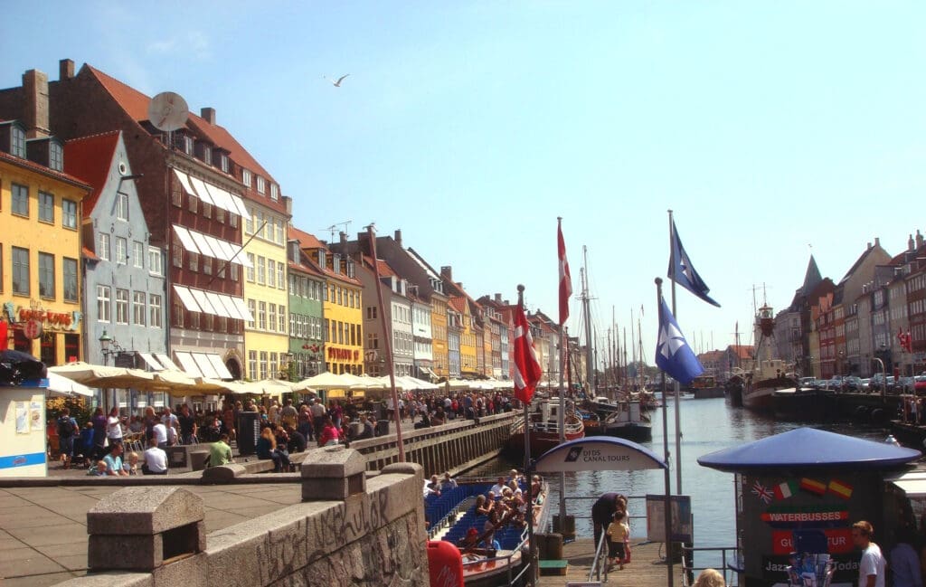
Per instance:
[[[497,547],[492,549],[460,546],[470,529],[484,536],[486,518],[475,511],[476,498],[486,494],[497,478],[457,480],[457,488],[425,499],[425,516],[435,520],[429,529],[429,538],[457,545],[463,558],[463,581],[467,587],[494,587],[513,584],[523,561],[522,553],[529,547],[527,526],[508,523],[494,533]],[[519,481],[526,491],[526,483]],[[549,500],[544,482],[540,503],[533,506],[534,531],[546,526]]]

